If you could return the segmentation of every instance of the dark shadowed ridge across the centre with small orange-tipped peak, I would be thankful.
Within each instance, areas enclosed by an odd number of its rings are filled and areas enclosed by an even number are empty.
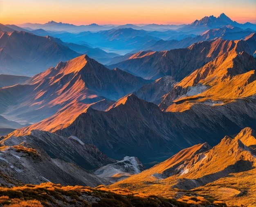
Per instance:
[[[130,95],[107,112],[88,108],[56,133],[94,143],[115,159],[133,155],[146,163],[163,160],[196,142],[214,145],[225,133],[255,127],[254,101],[255,97],[248,97],[221,106],[194,105],[182,113],[166,113],[155,104]]]

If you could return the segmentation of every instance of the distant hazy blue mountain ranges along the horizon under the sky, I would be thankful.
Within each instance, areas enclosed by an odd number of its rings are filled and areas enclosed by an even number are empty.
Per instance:
[[[54,35],[54,37],[61,38],[64,42],[83,44],[84,46],[86,45],[93,48],[99,47],[104,51],[119,53],[121,55],[125,55],[126,53],[135,53],[142,50],[163,51],[175,48],[184,48],[196,42],[213,40],[214,38],[238,40],[249,35],[250,31],[256,31],[255,24],[238,24],[237,22],[230,20],[230,18],[225,14],[221,14],[218,18],[209,16],[202,18],[202,20],[196,20],[189,25],[176,26],[176,30],[171,29],[174,28],[171,25],[169,27],[165,26],[166,29],[150,29],[150,25],[91,25],[92,27],[95,26],[95,28],[101,28],[95,32],[94,30],[90,30],[90,27],[88,27],[88,29],[81,31],[80,33],[73,33],[72,26],[77,27],[77,29],[79,26],[53,21],[48,22],[45,25],[34,25],[35,27],[31,25],[31,28],[45,29],[46,25],[50,26],[50,28],[64,28],[67,26],[67,30],[64,29],[63,31],[56,31],[56,29],[50,29],[51,31],[54,31],[54,33],[44,33],[45,35]],[[154,27],[154,25],[152,26]],[[158,27],[159,25],[155,26]],[[83,26],[80,27],[82,28]],[[177,30],[178,27],[179,29]],[[69,30],[69,28],[71,30]],[[208,30],[213,30],[209,32],[211,35],[205,34]],[[219,31],[216,32],[216,30]],[[36,32],[37,31],[31,31],[31,33]],[[87,55],[92,57],[92,54],[88,53]],[[96,57],[93,58],[95,59]],[[97,60],[100,61],[99,59]],[[102,63],[106,64],[109,61],[110,60],[103,60]]]

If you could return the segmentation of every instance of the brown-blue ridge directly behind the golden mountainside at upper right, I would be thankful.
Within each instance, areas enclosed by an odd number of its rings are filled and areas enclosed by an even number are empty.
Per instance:
[[[109,68],[118,67],[145,79],[158,79],[171,75],[175,80],[180,81],[194,70],[234,47],[240,52],[245,51],[249,54],[255,49],[254,45],[250,48],[249,44],[243,40],[212,40],[170,51],[136,53]]]

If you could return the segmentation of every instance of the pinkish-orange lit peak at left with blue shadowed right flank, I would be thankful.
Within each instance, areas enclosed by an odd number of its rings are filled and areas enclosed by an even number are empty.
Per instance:
[[[82,55],[58,63],[55,68],[31,77],[23,85],[0,89],[3,101],[0,110],[6,117],[28,123],[54,115],[45,121],[45,126],[55,128],[74,120],[92,104],[98,109],[108,108],[109,101],[117,100],[149,82],[118,68],[109,70]]]

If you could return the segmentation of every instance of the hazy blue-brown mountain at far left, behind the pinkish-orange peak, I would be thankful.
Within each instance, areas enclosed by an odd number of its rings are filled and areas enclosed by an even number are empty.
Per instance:
[[[11,75],[35,75],[59,61],[79,56],[48,37],[23,31],[0,32],[0,49],[0,72]]]

